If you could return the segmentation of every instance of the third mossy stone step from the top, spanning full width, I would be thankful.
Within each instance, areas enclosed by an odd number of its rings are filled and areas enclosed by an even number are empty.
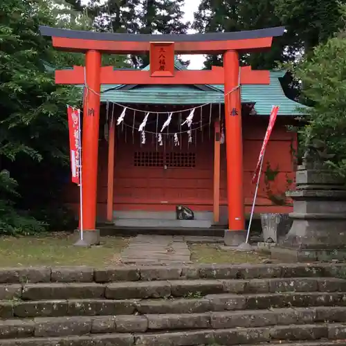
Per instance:
[[[285,307],[343,307],[346,292],[286,292],[261,294],[211,294],[201,298],[174,299],[71,299],[3,300],[0,318],[107,316],[147,313],[204,313]]]

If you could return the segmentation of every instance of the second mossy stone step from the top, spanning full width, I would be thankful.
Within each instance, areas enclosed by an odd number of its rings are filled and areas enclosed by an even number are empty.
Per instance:
[[[38,283],[0,285],[0,300],[134,299],[217,293],[345,292],[346,280],[300,277],[253,280],[165,280],[148,282]]]

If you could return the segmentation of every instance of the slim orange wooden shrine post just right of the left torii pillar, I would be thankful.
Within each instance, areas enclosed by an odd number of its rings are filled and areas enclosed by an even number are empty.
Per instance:
[[[116,127],[114,119],[109,125],[108,140],[108,176],[107,176],[107,221],[113,221],[113,188],[114,188],[114,146],[116,137]]]

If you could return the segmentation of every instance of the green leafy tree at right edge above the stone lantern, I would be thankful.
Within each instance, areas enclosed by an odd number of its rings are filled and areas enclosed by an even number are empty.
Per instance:
[[[322,140],[329,154],[335,154],[331,167],[346,177],[346,34],[318,45],[298,64],[295,75],[311,105],[304,116],[307,125],[298,130],[302,149],[313,139]]]

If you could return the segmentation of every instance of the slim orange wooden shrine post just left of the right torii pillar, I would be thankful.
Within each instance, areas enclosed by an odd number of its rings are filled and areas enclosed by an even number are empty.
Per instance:
[[[220,219],[220,121],[215,120],[215,140],[214,140],[214,199],[213,214],[214,223]]]

